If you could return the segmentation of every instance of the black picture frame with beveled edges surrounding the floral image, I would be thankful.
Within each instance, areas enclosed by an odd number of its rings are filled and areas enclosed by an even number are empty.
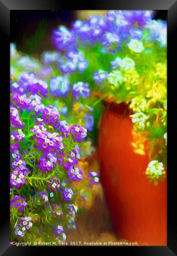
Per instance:
[[[168,11],[168,245],[164,247],[104,247],[104,250],[114,248],[114,253],[122,255],[123,253],[134,254],[137,256],[174,256],[177,255],[177,212],[175,211],[176,201],[176,154],[175,154],[175,103],[176,94],[173,92],[176,86],[176,64],[175,59],[176,43],[175,32],[177,28],[177,1],[175,0],[97,0],[89,1],[83,5],[73,3],[69,4],[70,10],[74,9],[154,9]],[[0,1],[0,28],[1,28],[1,63],[3,64],[1,74],[1,135],[5,142],[1,141],[1,212],[0,221],[0,253],[3,256],[9,255],[32,255],[41,250],[53,249],[61,253],[61,249],[68,252],[76,253],[77,250],[92,250],[92,247],[15,247],[9,245],[9,35],[10,35],[10,11],[11,10],[67,10],[68,2],[59,0],[1,0]],[[3,102],[3,103],[2,103]],[[153,214],[153,213],[152,213]],[[59,249],[59,250],[58,250]],[[100,247],[94,247],[100,250]],[[40,251],[40,252],[39,252]],[[105,251],[106,252],[106,251]],[[53,253],[53,252],[52,252]],[[111,253],[111,252],[110,252]]]

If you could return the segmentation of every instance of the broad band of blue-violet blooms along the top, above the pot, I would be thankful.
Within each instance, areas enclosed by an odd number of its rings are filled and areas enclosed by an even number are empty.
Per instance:
[[[52,41],[62,51],[76,49],[80,44],[94,45],[99,41],[104,46],[103,51],[106,51],[112,43],[119,48],[121,42],[129,37],[140,40],[143,37],[142,28],[148,26],[151,19],[152,11],[149,10],[109,11],[106,17],[91,15],[85,22],[76,20],[71,30],[60,26],[54,30]],[[140,52],[142,46],[138,42],[135,45],[135,42],[131,42],[130,48]]]

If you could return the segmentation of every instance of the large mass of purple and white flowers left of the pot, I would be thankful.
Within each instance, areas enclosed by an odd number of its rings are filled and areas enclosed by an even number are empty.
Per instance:
[[[84,85],[86,89],[87,84]],[[66,97],[69,89],[68,78],[51,78],[50,95]],[[78,93],[82,95],[83,91]],[[86,94],[88,93],[89,89],[86,90]],[[73,216],[67,218],[66,214],[57,210],[57,206],[52,211],[48,208],[56,198],[64,206],[65,202],[76,200],[70,182],[83,179],[82,169],[77,167],[81,158],[76,142],[87,136],[87,129],[61,120],[63,111],[59,112],[56,104],[53,106],[45,103],[45,106],[42,103],[44,98],[48,98],[47,82],[37,78],[35,73],[23,72],[18,81],[11,81],[11,213],[21,213],[27,204],[29,209],[32,203],[39,206],[44,214],[49,211],[51,216],[61,217],[63,224],[73,228],[76,227]],[[33,187],[31,202],[28,196],[24,199],[20,195],[24,193],[24,184]],[[30,222],[30,229],[31,224]],[[20,238],[28,236],[26,231],[29,229],[28,224],[26,227],[21,225],[16,224],[15,229],[15,235]],[[57,233],[60,234],[59,230]],[[65,233],[61,232],[60,235],[64,241]]]

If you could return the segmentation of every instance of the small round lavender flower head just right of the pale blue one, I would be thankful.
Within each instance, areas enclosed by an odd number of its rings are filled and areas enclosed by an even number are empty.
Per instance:
[[[86,98],[90,95],[90,89],[88,88],[88,83],[78,82],[74,83],[73,85],[73,97],[76,97],[77,100],[79,100],[79,95]]]

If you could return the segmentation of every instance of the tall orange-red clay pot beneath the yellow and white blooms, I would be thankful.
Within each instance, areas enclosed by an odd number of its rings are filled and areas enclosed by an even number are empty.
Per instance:
[[[167,182],[149,183],[148,152],[135,154],[132,128],[127,105],[107,105],[100,122],[98,154],[114,231],[138,245],[166,246]]]

